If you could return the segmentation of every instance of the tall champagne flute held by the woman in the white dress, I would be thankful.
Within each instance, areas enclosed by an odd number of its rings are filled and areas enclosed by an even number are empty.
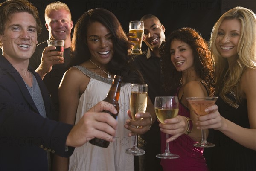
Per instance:
[[[136,113],[144,113],[148,104],[148,85],[147,84],[131,84],[131,99],[130,99],[130,108],[131,108],[131,117],[134,120]],[[137,126],[138,128],[138,126]],[[145,154],[143,149],[138,148],[137,146],[138,135],[135,136],[134,145],[132,148],[126,149],[126,153],[133,154],[134,156],[140,156]]]

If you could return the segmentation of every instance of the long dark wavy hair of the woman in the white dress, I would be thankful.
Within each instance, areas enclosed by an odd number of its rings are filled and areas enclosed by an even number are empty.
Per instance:
[[[90,9],[76,22],[72,43],[71,43],[71,66],[79,65],[90,59],[90,51],[87,46],[87,29],[91,23],[99,22],[110,32],[113,41],[114,55],[107,64],[107,69],[114,75],[121,75],[124,82],[142,83],[143,77],[140,72],[131,64],[129,56],[128,38],[116,16],[107,9]]]

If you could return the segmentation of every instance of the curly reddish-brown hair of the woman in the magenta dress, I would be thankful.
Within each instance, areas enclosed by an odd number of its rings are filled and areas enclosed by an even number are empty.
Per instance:
[[[166,92],[174,94],[180,87],[181,72],[177,71],[171,61],[170,46],[173,40],[180,40],[187,43],[194,55],[194,65],[197,76],[204,80],[209,88],[209,96],[214,95],[214,61],[211,58],[209,44],[195,29],[186,27],[171,32],[166,42],[161,45],[160,54],[162,61],[162,74]]]

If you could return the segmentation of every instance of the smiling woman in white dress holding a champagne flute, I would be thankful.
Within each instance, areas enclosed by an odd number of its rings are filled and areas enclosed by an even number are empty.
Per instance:
[[[100,8],[82,14],[74,29],[71,55],[74,67],[65,73],[59,87],[60,121],[77,123],[87,110],[105,99],[114,75],[121,75],[123,81],[119,97],[118,128],[115,142],[110,143],[108,148],[88,142],[75,149],[68,165],[67,159],[55,157],[55,169],[133,171],[134,156],[126,154],[125,149],[133,145],[132,135],[148,131],[152,121],[149,112],[140,113],[140,118],[143,118],[141,121],[131,120],[127,114],[131,83],[143,83],[143,79],[131,64],[128,38],[115,15]],[[150,100],[147,111],[151,112],[154,122],[156,116]]]

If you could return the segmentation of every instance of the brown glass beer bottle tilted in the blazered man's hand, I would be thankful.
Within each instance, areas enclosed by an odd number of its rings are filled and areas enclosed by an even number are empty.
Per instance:
[[[119,75],[115,75],[115,77],[113,79],[113,82],[112,82],[112,85],[110,87],[110,90],[107,94],[107,97],[103,100],[103,101],[107,101],[107,102],[113,104],[113,106],[117,110],[117,114],[119,113],[118,99],[119,99],[119,94],[120,94],[121,82],[122,82],[122,77],[119,76]],[[109,113],[115,119],[117,117],[117,114],[114,115],[109,111],[104,110],[103,112]],[[99,147],[104,147],[104,148],[107,148],[109,143],[110,143],[110,142],[108,142],[104,139],[99,139],[99,138],[91,139],[89,142],[93,145],[97,145]]]

